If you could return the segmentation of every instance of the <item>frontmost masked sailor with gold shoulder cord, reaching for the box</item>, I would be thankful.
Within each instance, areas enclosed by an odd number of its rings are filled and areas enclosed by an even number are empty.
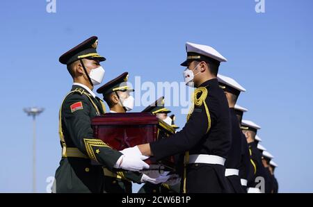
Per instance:
[[[183,192],[230,192],[224,163],[230,150],[230,113],[227,99],[218,85],[220,62],[212,47],[186,43],[184,80],[195,87],[193,108],[184,128],[167,139],[138,145],[143,155],[160,160],[185,153]]]

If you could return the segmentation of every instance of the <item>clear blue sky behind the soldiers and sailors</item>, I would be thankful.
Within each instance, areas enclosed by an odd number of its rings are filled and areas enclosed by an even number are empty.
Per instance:
[[[143,81],[182,81],[186,41],[218,49],[228,59],[220,73],[247,89],[239,104],[262,126],[280,192],[313,192],[313,2],[266,0],[262,14],[255,4],[56,0],[56,13],[47,13],[44,0],[1,1],[0,192],[31,192],[26,106],[45,108],[37,131],[37,188],[45,192],[61,157],[58,108],[72,84],[58,57],[91,35],[107,58],[104,82],[125,71]],[[171,109],[184,126],[179,107]]]

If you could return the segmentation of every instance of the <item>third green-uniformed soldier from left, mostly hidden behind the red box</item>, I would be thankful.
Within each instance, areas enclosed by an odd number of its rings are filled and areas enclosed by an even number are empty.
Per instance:
[[[168,116],[170,110],[164,107],[164,97],[157,99],[153,104],[147,106],[143,110],[143,112],[150,112],[155,115],[157,118],[166,122],[169,126],[172,126],[172,119]],[[175,125],[175,124],[174,124]],[[179,177],[175,175],[173,176],[171,181],[164,181],[160,183],[151,183],[146,182],[145,185],[138,190],[138,193],[169,193],[169,192],[179,192],[179,188],[177,188],[177,183],[179,183]],[[170,185],[168,185],[170,184]],[[172,186],[175,185],[175,188]],[[179,186],[178,186],[179,187]],[[178,191],[177,191],[178,190]]]

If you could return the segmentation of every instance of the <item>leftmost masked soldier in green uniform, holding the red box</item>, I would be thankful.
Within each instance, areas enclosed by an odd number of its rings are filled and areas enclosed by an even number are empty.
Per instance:
[[[60,166],[56,169],[56,192],[103,192],[102,166],[138,171],[149,168],[138,151],[120,152],[93,138],[91,119],[104,114],[104,104],[93,93],[93,86],[104,78],[93,36],[64,53],[59,61],[67,65],[73,78],[72,90],[65,96],[59,111],[59,134],[62,147]]]

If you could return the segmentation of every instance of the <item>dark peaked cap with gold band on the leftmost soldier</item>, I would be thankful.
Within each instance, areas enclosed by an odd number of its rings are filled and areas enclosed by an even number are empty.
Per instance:
[[[106,60],[106,58],[97,53],[97,45],[98,38],[93,36],[64,53],[58,60],[65,65],[70,65],[74,61],[83,58],[97,59],[100,62]]]

